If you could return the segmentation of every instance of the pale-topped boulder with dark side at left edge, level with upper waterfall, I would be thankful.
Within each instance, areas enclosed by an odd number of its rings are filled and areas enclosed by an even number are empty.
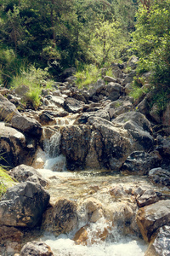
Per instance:
[[[26,145],[26,137],[20,131],[0,123],[0,162],[3,166],[30,164],[34,150]]]

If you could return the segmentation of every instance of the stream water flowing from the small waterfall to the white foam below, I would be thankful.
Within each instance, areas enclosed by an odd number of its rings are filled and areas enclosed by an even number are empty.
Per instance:
[[[151,186],[147,178],[122,176],[120,173],[106,172],[105,170],[67,172],[65,156],[59,152],[59,141],[59,132],[45,141],[45,163],[43,169],[39,169],[38,172],[48,179],[51,202],[57,201],[59,198],[77,202],[79,206],[78,227],[75,227],[75,230],[69,234],[57,237],[44,233],[41,240],[51,247],[56,256],[144,256],[147,245],[139,239],[135,227],[132,232],[127,230],[126,216],[123,215],[123,212],[134,205],[134,199],[129,191],[138,186]],[[62,172],[56,172],[57,170]],[[111,195],[112,188],[117,189],[116,196]],[[82,206],[84,201],[92,197],[101,202],[105,214],[102,213],[101,218],[97,221],[88,223],[88,213]],[[135,207],[132,209],[134,212],[136,211]],[[131,215],[133,215],[132,212]],[[77,230],[87,223],[86,244],[77,244],[73,241],[73,237]],[[100,239],[99,232],[102,233],[104,230],[107,230],[108,236],[105,239]]]

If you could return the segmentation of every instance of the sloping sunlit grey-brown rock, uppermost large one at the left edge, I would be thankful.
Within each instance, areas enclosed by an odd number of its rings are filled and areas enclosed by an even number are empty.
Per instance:
[[[10,122],[14,116],[20,116],[19,111],[13,103],[0,94],[0,120]]]

